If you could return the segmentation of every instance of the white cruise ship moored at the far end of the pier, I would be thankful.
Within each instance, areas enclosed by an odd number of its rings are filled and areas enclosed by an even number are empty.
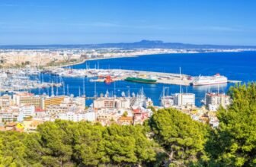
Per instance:
[[[213,76],[199,76],[193,77],[191,84],[193,86],[201,86],[201,85],[211,85],[211,84],[220,84],[220,83],[227,83],[228,78],[224,77],[220,74],[215,74]]]

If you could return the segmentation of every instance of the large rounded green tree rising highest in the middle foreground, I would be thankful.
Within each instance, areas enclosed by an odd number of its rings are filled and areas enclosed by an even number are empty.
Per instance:
[[[153,137],[163,147],[160,154],[167,156],[166,166],[192,165],[201,159],[206,160],[206,125],[193,121],[177,109],[158,110],[152,115],[149,125]]]

